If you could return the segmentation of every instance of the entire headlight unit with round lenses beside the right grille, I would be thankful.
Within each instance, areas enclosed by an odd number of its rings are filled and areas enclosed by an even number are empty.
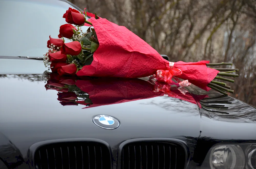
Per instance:
[[[209,169],[256,169],[256,144],[213,146],[201,166]]]

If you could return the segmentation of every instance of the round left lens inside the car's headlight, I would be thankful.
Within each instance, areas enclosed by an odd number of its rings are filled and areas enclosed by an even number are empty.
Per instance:
[[[245,166],[245,156],[239,145],[213,148],[209,161],[211,169],[243,169]]]

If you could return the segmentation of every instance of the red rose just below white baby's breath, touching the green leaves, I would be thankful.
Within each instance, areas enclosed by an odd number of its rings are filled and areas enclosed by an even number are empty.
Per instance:
[[[82,50],[81,44],[78,41],[64,43],[60,48],[62,54],[65,55],[79,55]]]

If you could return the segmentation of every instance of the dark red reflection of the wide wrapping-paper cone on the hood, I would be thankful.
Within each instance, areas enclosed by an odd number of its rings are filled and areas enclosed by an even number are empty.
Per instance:
[[[89,98],[93,103],[89,107],[124,103],[164,95],[162,92],[154,92],[154,85],[141,79],[78,80],[76,86],[89,94]]]

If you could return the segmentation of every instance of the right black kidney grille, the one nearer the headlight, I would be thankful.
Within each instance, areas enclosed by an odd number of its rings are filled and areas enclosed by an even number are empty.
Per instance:
[[[186,154],[182,146],[166,142],[134,142],[122,149],[122,169],[182,169]]]

